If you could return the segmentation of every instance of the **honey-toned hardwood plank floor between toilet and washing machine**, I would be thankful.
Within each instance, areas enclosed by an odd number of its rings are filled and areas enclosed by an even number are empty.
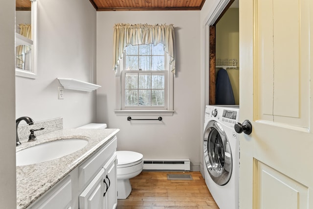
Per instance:
[[[193,180],[167,180],[167,174]],[[219,209],[200,172],[141,172],[131,179],[132,193],[116,209]]]

